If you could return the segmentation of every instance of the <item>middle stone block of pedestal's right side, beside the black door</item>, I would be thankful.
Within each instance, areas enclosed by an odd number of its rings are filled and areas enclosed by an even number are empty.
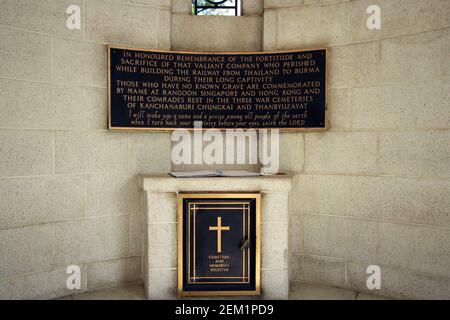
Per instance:
[[[288,268],[288,225],[263,223],[261,225],[261,268]]]

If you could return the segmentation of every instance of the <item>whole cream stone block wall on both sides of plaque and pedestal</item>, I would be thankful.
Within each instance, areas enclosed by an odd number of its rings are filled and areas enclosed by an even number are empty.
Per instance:
[[[378,264],[378,294],[450,298],[450,2],[243,1],[192,17],[189,0],[0,0],[0,298],[73,294],[69,264],[83,291],[141,281],[136,174],[170,170],[170,135],[106,130],[106,43],[330,47],[329,132],[280,140],[291,280],[367,291]]]

